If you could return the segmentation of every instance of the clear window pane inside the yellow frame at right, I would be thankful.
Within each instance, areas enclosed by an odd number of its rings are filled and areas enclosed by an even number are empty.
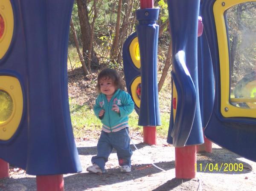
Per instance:
[[[226,11],[229,41],[230,102],[256,108],[256,2],[240,3]]]

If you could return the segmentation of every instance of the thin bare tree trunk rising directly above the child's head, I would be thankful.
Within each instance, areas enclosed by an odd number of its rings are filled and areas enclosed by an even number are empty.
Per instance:
[[[120,20],[121,20],[121,9],[122,9],[122,0],[118,2],[117,18],[116,18],[116,34],[111,48],[111,59],[114,60],[117,56],[118,51],[118,42],[119,42],[119,31],[120,31]]]

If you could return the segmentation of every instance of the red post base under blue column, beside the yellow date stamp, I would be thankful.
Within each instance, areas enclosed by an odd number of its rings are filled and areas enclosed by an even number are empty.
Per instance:
[[[180,179],[192,179],[196,174],[196,146],[175,148],[175,176]]]

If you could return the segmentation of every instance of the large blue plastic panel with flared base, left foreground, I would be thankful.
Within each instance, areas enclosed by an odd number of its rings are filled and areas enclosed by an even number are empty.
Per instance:
[[[81,171],[67,91],[67,46],[73,0],[11,0],[14,35],[0,75],[16,77],[23,117],[16,134],[0,141],[0,158],[27,174]]]

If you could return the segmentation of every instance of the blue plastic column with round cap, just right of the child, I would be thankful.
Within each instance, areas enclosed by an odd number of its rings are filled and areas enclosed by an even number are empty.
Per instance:
[[[141,101],[138,125],[161,125],[157,88],[157,44],[159,26],[156,24],[159,9],[136,11],[136,27],[140,46]]]

